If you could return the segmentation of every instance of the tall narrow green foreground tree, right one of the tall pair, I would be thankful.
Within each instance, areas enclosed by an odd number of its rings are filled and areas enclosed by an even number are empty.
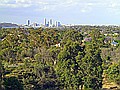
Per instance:
[[[94,31],[95,32],[95,31]],[[82,59],[85,90],[100,90],[102,88],[102,59],[97,33],[92,33],[92,42],[85,47],[85,57]],[[96,35],[97,34],[97,35]]]

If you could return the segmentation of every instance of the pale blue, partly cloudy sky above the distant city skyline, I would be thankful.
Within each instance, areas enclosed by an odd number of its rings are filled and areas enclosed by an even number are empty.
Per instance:
[[[120,24],[120,0],[0,0],[0,23]]]

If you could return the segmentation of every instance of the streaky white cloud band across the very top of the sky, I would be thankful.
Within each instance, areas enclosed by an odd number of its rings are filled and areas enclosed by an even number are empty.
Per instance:
[[[118,13],[120,0],[0,0],[0,7],[22,8],[36,6],[35,10],[54,11],[77,7],[81,12],[90,12],[95,8],[104,8]]]

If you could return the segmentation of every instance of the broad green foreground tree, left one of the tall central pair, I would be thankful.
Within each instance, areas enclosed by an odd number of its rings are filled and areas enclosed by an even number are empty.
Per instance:
[[[58,79],[66,89],[78,90],[81,84],[81,78],[78,74],[78,63],[76,56],[82,51],[77,42],[68,41],[63,50],[58,54],[58,63],[56,72]]]

